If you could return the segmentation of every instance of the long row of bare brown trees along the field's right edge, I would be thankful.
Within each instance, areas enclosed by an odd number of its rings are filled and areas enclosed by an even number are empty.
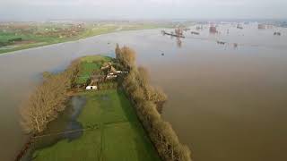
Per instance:
[[[163,160],[190,161],[190,149],[181,144],[170,123],[163,121],[159,113],[161,102],[167,100],[160,88],[150,85],[149,72],[135,67],[135,51],[129,47],[116,47],[118,61],[129,69],[122,82],[126,94],[134,103],[135,111],[144,129],[148,132],[155,148]]]

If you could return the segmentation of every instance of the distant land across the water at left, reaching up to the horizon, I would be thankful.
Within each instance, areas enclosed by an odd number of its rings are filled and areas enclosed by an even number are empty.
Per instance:
[[[170,27],[163,23],[127,22],[0,22],[0,54],[31,47],[89,38],[124,30]]]

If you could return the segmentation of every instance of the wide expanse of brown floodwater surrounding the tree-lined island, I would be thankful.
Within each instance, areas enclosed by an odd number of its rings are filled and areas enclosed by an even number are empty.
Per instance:
[[[163,117],[194,160],[287,160],[287,30],[243,28],[221,24],[209,34],[204,26],[180,40],[161,30],[126,31],[0,55],[0,157],[13,160],[24,142],[17,108],[41,72],[61,71],[82,55],[113,55],[119,43],[137,51],[138,64],[168,94]]]

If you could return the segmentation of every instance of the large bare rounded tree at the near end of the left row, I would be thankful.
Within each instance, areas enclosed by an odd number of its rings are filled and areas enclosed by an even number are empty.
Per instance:
[[[22,106],[22,126],[25,131],[43,131],[48,122],[54,120],[57,113],[64,109],[67,81],[60,77],[52,76],[45,80]]]

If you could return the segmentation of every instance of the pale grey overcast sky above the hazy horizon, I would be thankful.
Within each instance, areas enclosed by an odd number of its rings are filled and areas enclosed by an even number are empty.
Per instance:
[[[286,18],[287,0],[0,0],[0,21]]]

